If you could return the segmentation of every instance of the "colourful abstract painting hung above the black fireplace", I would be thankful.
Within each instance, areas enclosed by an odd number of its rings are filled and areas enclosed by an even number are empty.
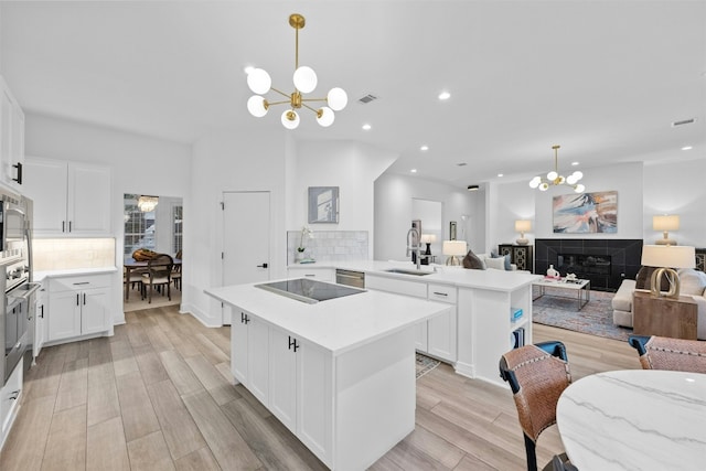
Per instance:
[[[618,232],[617,191],[554,196],[552,206],[555,234]]]

